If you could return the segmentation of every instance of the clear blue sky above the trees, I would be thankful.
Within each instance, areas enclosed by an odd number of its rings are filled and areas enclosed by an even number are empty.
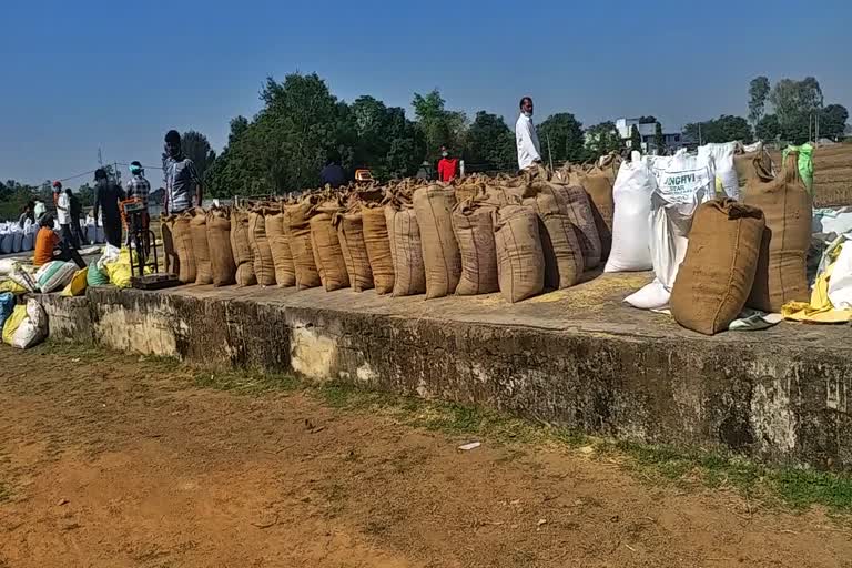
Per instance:
[[[347,101],[447,105],[584,124],[653,114],[667,131],[747,113],[758,74],[814,75],[852,109],[852,2],[2,2],[0,179],[158,164],[166,130],[216,151],[266,75],[317,72]],[[156,180],[154,172],[149,172]],[[74,180],[77,186],[85,179]]]

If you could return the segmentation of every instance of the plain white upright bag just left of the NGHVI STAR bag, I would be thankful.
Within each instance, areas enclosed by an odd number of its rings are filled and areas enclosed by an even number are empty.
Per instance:
[[[612,187],[612,250],[604,272],[647,271],[651,263],[651,193],[656,186],[648,163],[635,153],[622,162]]]

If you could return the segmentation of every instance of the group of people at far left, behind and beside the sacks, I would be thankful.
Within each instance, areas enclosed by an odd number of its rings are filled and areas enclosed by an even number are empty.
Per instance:
[[[165,134],[163,153],[163,181],[165,196],[163,209],[169,214],[183,213],[201,205],[203,187],[201,178],[192,160],[183,154],[181,135],[175,130]],[[105,241],[116,247],[125,244],[122,241],[123,205],[135,202],[142,205],[140,212],[142,229],[148,231],[151,216],[148,212],[151,194],[151,183],[145,178],[145,171],[139,161],[130,163],[130,180],[124,187],[110,180],[106,171],[99,168],[94,171],[94,203],[92,216],[103,226]],[[71,189],[63,189],[62,182],[53,182],[53,205],[55,217],[47,211],[43,203],[29,202],[23,207],[19,219],[21,227],[30,222],[39,224],[36,235],[33,265],[41,266],[53,260],[73,261],[81,268],[85,266],[78,248],[89,244],[81,225],[82,205]],[[59,234],[53,230],[54,221],[59,222]],[[130,234],[128,234],[128,240]]]

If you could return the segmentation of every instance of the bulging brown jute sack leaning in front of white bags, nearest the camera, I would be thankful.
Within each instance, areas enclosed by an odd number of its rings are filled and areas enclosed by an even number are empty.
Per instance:
[[[731,199],[698,207],[669,300],[680,325],[706,335],[728,329],[754,283],[764,226],[762,211]]]

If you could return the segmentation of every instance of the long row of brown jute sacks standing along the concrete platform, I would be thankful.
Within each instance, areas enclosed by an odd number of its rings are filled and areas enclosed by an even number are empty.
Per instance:
[[[183,283],[375,287],[427,298],[499,291],[518,302],[571,286],[606,258],[599,226],[609,234],[607,214],[582,185],[548,178],[406,180],[196,209],[162,220],[164,247]],[[601,181],[611,203],[611,182],[600,168],[582,179],[591,187]]]

